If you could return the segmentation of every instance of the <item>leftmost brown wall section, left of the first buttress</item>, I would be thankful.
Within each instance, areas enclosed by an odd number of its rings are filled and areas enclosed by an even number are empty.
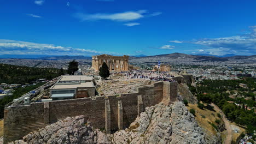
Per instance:
[[[4,110],[4,141],[22,139],[22,136],[44,127],[44,104],[8,107]]]

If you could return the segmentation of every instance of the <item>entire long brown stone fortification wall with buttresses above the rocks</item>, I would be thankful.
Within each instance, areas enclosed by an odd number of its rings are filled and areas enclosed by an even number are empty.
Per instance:
[[[164,87],[168,89],[167,92],[164,92]],[[157,82],[153,85],[139,87],[138,93],[6,107],[4,111],[4,143],[22,139],[31,131],[59,119],[79,115],[84,115],[95,128],[106,129],[107,133],[110,133],[111,130],[123,129],[129,127],[145,107],[153,106],[161,101],[170,104],[170,100],[177,97],[176,89],[177,82],[173,84]]]

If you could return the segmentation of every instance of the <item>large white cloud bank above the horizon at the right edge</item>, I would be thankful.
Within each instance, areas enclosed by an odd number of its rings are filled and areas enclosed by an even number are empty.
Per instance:
[[[211,55],[222,56],[235,53],[236,55],[255,55],[256,54],[256,26],[251,26],[250,32],[241,35],[222,38],[204,38],[198,40],[178,41],[172,40],[172,43],[189,43],[204,46],[204,51]],[[197,50],[198,51],[198,50]]]

